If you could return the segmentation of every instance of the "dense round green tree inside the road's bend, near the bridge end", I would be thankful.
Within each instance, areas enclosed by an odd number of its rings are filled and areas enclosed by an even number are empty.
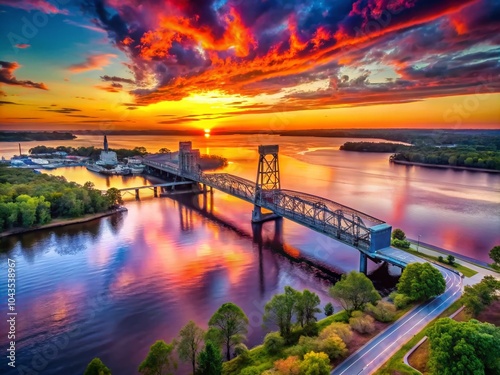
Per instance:
[[[446,282],[430,263],[410,263],[403,270],[397,288],[411,301],[425,301],[444,293]]]

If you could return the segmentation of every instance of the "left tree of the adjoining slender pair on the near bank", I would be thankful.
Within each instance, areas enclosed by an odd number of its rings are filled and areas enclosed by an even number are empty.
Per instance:
[[[285,286],[285,293],[275,294],[264,307],[264,322],[272,322],[279,328],[280,335],[288,340],[292,331],[292,318],[297,303],[297,292]]]

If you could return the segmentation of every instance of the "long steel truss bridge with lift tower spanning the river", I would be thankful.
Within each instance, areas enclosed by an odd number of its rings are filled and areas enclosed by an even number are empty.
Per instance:
[[[326,198],[281,189],[278,146],[259,146],[259,155],[257,182],[228,173],[203,173],[198,165],[184,165],[182,155],[179,163],[153,158],[145,158],[143,163],[175,179],[201,184],[204,192],[210,187],[253,204],[253,222],[284,217],[354,247],[360,251],[362,272],[366,273],[368,258],[401,268],[407,265],[404,256],[390,248],[390,225]],[[262,213],[262,208],[271,213]]]

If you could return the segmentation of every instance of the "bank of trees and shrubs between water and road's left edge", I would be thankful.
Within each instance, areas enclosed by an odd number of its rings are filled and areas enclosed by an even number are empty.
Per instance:
[[[397,286],[399,301],[423,301],[444,291],[444,279],[439,272],[434,275],[420,264],[412,266],[403,271],[402,282]],[[435,285],[427,285],[428,280]],[[191,365],[193,374],[328,375],[332,364],[350,352],[354,336],[364,337],[365,342],[376,333],[375,321],[388,323],[398,316],[396,300],[382,301],[373,283],[359,272],[344,275],[330,288],[330,295],[345,310],[331,315],[333,306],[327,304],[328,317],[317,322],[321,312],[318,295],[285,287],[284,293],[273,296],[264,308],[265,325],[277,327],[278,331],[268,333],[263,345],[251,350],[244,344],[247,316],[235,304],[225,303],[210,318],[207,331],[190,321],[171,343],[157,341],[139,372],[172,373],[177,366],[175,351],[181,361]],[[359,340],[357,344],[356,348]]]

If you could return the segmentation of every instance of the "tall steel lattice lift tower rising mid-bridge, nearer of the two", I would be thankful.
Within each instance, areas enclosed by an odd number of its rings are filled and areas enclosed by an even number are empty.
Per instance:
[[[280,167],[278,160],[278,145],[259,146],[259,167],[255,181],[255,201],[252,211],[252,222],[261,223],[267,220],[280,218],[274,213],[262,213],[259,202],[263,191],[280,190]]]

